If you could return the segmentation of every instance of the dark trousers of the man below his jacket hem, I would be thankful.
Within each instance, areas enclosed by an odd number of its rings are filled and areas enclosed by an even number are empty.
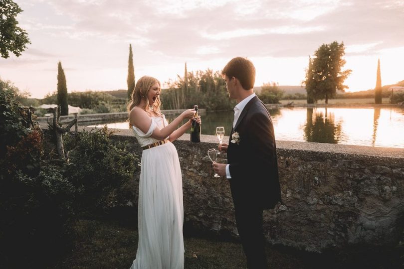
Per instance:
[[[263,210],[253,206],[235,204],[234,211],[248,269],[267,269],[265,238],[262,230]]]

